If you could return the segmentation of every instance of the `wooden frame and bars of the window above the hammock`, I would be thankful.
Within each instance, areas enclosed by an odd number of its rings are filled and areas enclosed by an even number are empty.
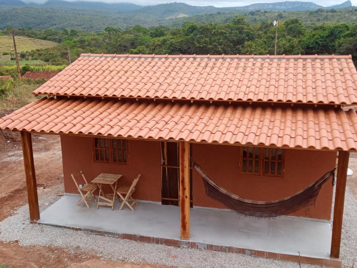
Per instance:
[[[243,147],[253,147],[253,148],[259,148],[259,158],[249,158],[245,157],[243,158]],[[272,149],[281,149],[281,160],[278,159],[271,159],[271,152]],[[265,151],[269,150],[269,159],[265,159]],[[243,171],[243,160],[253,160],[253,161],[259,161],[258,165],[258,172],[250,172],[250,171]],[[264,165],[266,162],[269,162],[269,170],[270,170],[270,165],[272,162],[275,162],[275,170],[277,170],[277,163],[281,162],[281,174],[277,173],[265,173]],[[254,163],[254,162],[253,162]],[[254,166],[253,166],[254,169]],[[248,161],[247,161],[247,169],[248,170]],[[258,147],[258,146],[241,146],[239,150],[239,171],[241,174],[247,174],[247,175],[258,175],[258,176],[268,176],[268,177],[275,177],[275,178],[283,178],[284,173],[285,173],[285,149],[283,148],[268,148],[268,147]]]

